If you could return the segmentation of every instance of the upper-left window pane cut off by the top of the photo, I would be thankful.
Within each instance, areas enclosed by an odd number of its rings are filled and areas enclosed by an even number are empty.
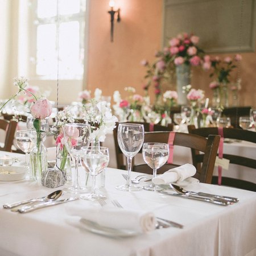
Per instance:
[[[38,18],[57,15],[57,0],[38,0]]]

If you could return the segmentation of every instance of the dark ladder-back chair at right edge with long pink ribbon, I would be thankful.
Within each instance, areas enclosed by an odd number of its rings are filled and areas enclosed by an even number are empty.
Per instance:
[[[218,128],[206,127],[206,128],[196,129],[195,126],[189,125],[188,132],[191,134],[197,134],[203,137],[207,137],[209,134],[218,134]],[[234,128],[224,128],[223,135],[224,135],[224,138],[228,138],[228,139],[239,139],[242,141],[249,141],[249,142],[256,143],[256,133],[254,131],[247,131],[247,130],[234,129]],[[195,153],[192,152],[192,155],[193,154]],[[230,163],[232,164],[238,164],[240,166],[254,168],[256,171],[256,159],[250,159],[240,155],[231,155],[231,154],[228,154],[228,152],[224,152],[223,158],[229,159]],[[230,168],[230,172],[231,171],[232,171],[232,168]],[[213,176],[212,183],[217,184],[217,181],[218,181],[218,177]],[[231,177],[222,177],[221,184],[256,192],[256,184],[246,180],[233,179]]]

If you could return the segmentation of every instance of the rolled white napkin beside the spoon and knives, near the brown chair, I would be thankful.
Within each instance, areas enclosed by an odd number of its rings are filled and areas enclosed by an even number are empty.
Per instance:
[[[156,185],[168,184],[172,182],[180,182],[188,177],[196,174],[196,167],[192,164],[183,164],[183,166],[175,167],[170,169],[164,174],[156,176],[152,179]]]

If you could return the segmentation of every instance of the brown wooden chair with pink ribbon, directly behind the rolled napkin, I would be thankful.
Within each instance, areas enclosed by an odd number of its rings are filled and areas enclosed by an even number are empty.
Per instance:
[[[146,142],[160,142],[168,143],[170,133],[168,132],[151,132],[144,134],[144,143]],[[211,183],[214,169],[214,163],[218,150],[218,143],[220,142],[219,135],[209,135],[208,138],[199,135],[187,133],[175,133],[174,150],[175,146],[183,146],[191,148],[197,152],[193,155],[193,165],[197,168],[196,179],[203,183]],[[200,152],[204,154],[199,154]],[[175,159],[174,159],[175,160]],[[185,163],[184,163],[185,164]],[[177,167],[177,164],[164,164],[159,168],[158,174],[162,174],[171,168]],[[152,174],[152,169],[147,164],[139,164],[133,167],[133,171],[145,172]]]

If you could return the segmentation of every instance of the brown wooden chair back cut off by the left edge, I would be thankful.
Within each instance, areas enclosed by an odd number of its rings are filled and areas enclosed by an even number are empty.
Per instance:
[[[11,152],[11,146],[13,146],[14,135],[18,123],[14,120],[7,121],[5,119],[0,119],[0,129],[6,132],[5,143],[3,147],[0,147],[1,151]]]

